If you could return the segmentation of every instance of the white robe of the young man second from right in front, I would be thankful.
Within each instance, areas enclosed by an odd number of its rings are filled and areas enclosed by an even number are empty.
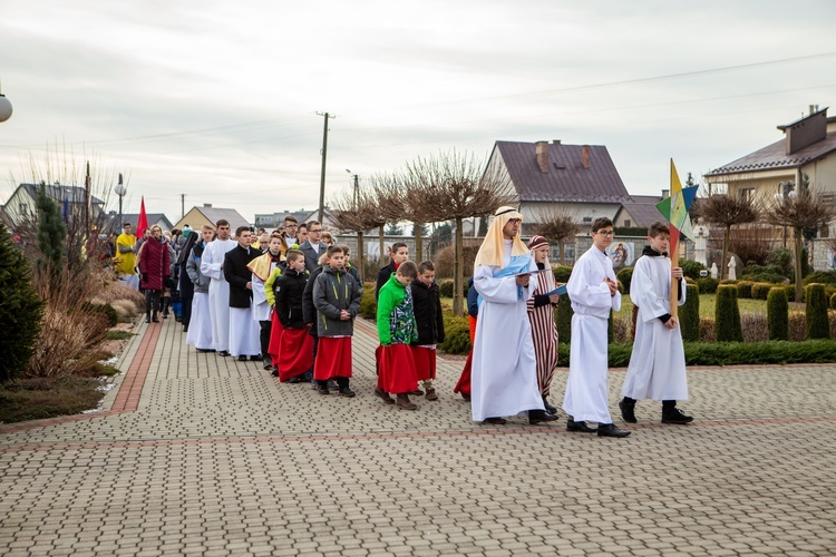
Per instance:
[[[592,246],[575,262],[566,284],[575,314],[563,410],[575,421],[612,423],[606,388],[606,326],[610,311],[621,309],[621,294],[610,294],[605,276],[615,281],[612,261]]]

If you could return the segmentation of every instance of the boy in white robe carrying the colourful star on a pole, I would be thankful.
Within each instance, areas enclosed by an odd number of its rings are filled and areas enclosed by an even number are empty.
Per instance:
[[[635,423],[635,402],[642,399],[662,401],[662,423],[684,424],[693,421],[677,408],[677,400],[688,400],[686,352],[679,320],[671,315],[671,281],[679,281],[678,304],[686,303],[682,268],[671,268],[667,257],[670,229],[662,222],[650,225],[649,246],[635,262],[630,283],[630,299],[639,307],[635,340],[619,402],[621,417]]]

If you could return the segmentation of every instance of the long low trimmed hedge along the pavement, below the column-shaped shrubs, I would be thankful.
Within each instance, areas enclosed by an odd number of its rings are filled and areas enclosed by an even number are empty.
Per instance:
[[[836,363],[836,341],[803,342],[686,342],[686,365],[760,365],[788,363]],[[626,368],[633,345],[611,344],[611,368]],[[557,365],[568,367],[570,345],[560,343]]]

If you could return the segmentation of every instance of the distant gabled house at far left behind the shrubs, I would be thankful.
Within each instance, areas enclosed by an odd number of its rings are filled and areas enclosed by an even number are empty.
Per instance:
[[[23,221],[36,218],[38,213],[37,197],[39,184],[20,184],[2,206],[9,219],[14,225]],[[60,184],[45,185],[47,195],[61,208],[62,214],[79,216],[85,211],[85,188],[80,186],[62,186]],[[105,213],[105,202],[90,196],[90,224],[101,222]]]

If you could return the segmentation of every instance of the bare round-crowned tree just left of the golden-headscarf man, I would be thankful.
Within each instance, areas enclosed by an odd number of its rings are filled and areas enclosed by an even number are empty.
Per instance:
[[[460,315],[465,282],[463,221],[509,204],[514,198],[513,184],[500,168],[486,167],[484,160],[456,150],[419,157],[407,164],[405,173],[415,195],[416,214],[422,215],[424,222],[456,223],[453,312]]]

